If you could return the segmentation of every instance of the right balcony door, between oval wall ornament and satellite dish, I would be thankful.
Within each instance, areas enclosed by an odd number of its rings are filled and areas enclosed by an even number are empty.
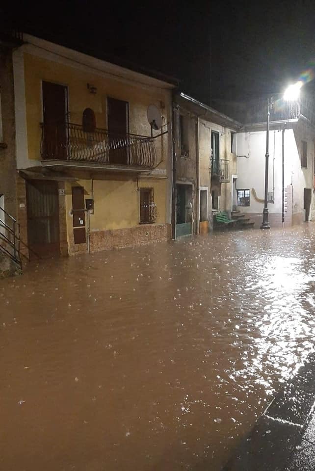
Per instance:
[[[128,115],[128,102],[115,98],[107,98],[110,163],[128,163]]]

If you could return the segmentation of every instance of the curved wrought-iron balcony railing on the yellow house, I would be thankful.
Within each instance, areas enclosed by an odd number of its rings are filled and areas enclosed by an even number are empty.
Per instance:
[[[119,135],[105,129],[93,132],[72,123],[41,124],[42,160],[69,160],[153,168],[157,165],[154,138]]]

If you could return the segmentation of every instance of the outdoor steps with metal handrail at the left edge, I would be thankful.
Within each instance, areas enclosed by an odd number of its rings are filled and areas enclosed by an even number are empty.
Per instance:
[[[28,260],[20,246],[27,245],[20,238],[20,224],[0,208],[0,278],[22,273],[22,258]]]

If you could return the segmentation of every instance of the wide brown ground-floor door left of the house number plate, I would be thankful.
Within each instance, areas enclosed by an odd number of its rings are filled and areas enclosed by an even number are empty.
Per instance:
[[[58,183],[26,181],[27,238],[31,251],[42,258],[59,255]]]

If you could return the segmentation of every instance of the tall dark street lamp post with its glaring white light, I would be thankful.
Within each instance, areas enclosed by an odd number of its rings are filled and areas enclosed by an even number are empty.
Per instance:
[[[297,101],[303,85],[302,80],[297,81],[287,87],[283,99],[287,102]],[[266,154],[265,154],[265,174],[264,174],[264,207],[262,211],[261,229],[270,229],[268,221],[268,166],[269,166],[269,128],[270,128],[270,108],[272,109],[273,98],[268,98],[267,128],[266,128]],[[284,162],[283,162],[284,166]]]

